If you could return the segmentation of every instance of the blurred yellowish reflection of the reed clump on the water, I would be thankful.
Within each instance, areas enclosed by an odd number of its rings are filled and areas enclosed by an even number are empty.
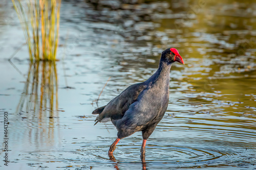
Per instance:
[[[30,62],[27,80],[16,110],[24,121],[21,122],[22,125],[15,126],[18,127],[19,135],[28,136],[27,142],[31,146],[38,145],[37,142],[41,146],[54,145],[55,126],[59,124],[57,85],[54,61]]]

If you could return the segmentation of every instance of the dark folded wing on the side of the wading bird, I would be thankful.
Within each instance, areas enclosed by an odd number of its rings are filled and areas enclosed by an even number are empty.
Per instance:
[[[129,107],[137,100],[139,94],[146,89],[145,83],[138,83],[127,87],[116,98],[111,100],[98,115],[95,125],[103,118],[120,119]],[[100,108],[98,108],[100,109]],[[97,109],[96,109],[97,110]],[[95,111],[94,111],[95,112]],[[96,113],[97,114],[97,113]]]

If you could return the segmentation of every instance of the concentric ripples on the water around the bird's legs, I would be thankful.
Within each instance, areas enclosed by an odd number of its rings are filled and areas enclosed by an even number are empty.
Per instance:
[[[140,161],[141,141],[136,139],[123,139],[116,148],[113,158],[108,156],[109,145],[112,140],[98,140],[97,142],[77,142],[69,145],[65,151],[36,151],[28,153],[29,160],[45,159],[45,162],[61,160],[62,163],[76,165],[104,163],[125,166],[125,164],[136,165]],[[114,138],[113,138],[114,140]],[[217,166],[236,165],[236,162],[255,163],[255,148],[253,145],[244,148],[241,143],[216,142],[190,139],[186,142],[173,140],[174,144],[163,143],[163,139],[152,138],[148,140],[146,147],[146,164],[164,164],[168,167],[195,167],[195,166]],[[188,144],[189,143],[189,144]],[[188,147],[189,145],[189,147]]]

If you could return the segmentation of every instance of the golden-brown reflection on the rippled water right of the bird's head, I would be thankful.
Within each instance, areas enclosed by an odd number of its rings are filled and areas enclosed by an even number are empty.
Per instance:
[[[178,81],[190,84],[187,93],[201,93],[187,98],[186,103],[208,107],[196,113],[233,116],[215,120],[230,127],[246,128],[247,124],[256,123],[253,3],[189,1],[182,5],[182,2],[170,2],[174,13],[163,14],[163,19],[155,21],[160,23],[157,30],[174,38],[172,45],[179,48],[181,56],[185,55],[186,67]],[[248,119],[239,118],[244,116]],[[255,127],[247,126],[247,129]]]

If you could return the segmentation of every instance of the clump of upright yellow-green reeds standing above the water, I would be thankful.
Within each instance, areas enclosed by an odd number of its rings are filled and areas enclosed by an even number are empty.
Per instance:
[[[61,0],[12,0],[31,61],[56,60]]]

